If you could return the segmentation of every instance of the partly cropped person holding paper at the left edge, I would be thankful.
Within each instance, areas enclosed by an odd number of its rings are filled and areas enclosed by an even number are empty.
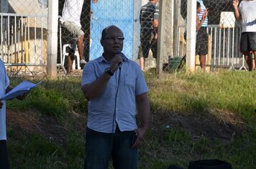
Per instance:
[[[12,90],[4,63],[0,59],[0,98]],[[25,95],[19,95],[17,99],[23,100]],[[0,100],[0,168],[9,168],[9,158],[6,146],[6,101]]]

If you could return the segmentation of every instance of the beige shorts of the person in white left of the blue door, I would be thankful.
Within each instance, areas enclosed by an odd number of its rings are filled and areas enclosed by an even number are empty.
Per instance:
[[[72,37],[72,41],[70,42],[71,48],[73,49],[73,51],[76,51],[76,42],[84,34],[84,32],[82,31],[80,26],[77,26],[70,21],[64,21],[63,27],[65,27],[65,29],[70,32],[70,35]]]

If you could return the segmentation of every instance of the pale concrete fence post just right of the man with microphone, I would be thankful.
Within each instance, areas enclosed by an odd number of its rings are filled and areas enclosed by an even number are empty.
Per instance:
[[[157,37],[157,74],[161,74],[163,72],[163,50],[165,46],[165,7],[165,1],[160,1],[160,18]]]

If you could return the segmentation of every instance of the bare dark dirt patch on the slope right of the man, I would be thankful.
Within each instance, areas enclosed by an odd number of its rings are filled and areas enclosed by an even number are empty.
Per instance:
[[[200,115],[183,115],[175,112],[155,112],[151,116],[151,129],[178,127],[188,130],[193,136],[204,136],[210,139],[229,140],[234,135],[241,135],[243,122],[231,112],[218,112]]]

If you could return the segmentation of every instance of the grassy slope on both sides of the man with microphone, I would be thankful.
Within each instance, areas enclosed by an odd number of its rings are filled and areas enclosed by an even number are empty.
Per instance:
[[[187,168],[191,160],[213,158],[232,163],[235,169],[256,168],[256,72],[179,72],[161,77],[146,72],[145,77],[152,122],[140,148],[140,168]],[[11,78],[14,86],[21,81]],[[40,119],[38,127],[58,123],[65,128],[39,132],[36,125],[27,130],[9,124],[12,168],[83,168],[86,124],[79,124],[79,119],[86,120],[87,101],[80,77],[42,79],[26,100],[8,101],[7,108]]]

